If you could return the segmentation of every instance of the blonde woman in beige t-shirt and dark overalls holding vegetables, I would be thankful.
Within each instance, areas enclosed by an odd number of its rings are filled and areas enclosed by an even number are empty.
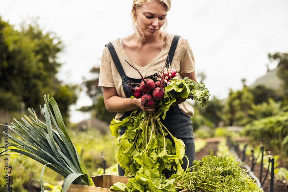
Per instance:
[[[178,69],[177,79],[189,77],[196,81],[194,56],[187,40],[160,30],[166,27],[170,6],[170,0],[134,0],[131,16],[135,32],[123,39],[111,41],[104,49],[99,86],[103,86],[107,110],[117,112],[115,119],[122,120],[138,108],[146,113],[155,111],[155,105],[145,108],[141,99],[131,98],[129,86],[125,85],[128,80],[130,83],[140,83],[141,79],[139,73],[125,60],[138,69],[143,77],[151,79],[157,69],[163,68],[165,58],[171,68]],[[185,143],[185,155],[191,167],[195,159],[195,146],[190,115],[194,115],[194,110],[184,101],[179,98],[162,122],[171,134]],[[124,131],[125,128],[122,128],[120,135]],[[187,167],[185,157],[182,167]],[[121,169],[119,175],[124,175]]]

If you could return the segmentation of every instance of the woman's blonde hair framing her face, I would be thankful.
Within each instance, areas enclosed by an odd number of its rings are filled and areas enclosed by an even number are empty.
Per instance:
[[[150,1],[156,1],[158,3],[161,3],[164,7],[166,7],[166,11],[169,11],[170,7],[171,7],[171,0],[133,0],[132,10],[131,10],[132,26],[133,26],[133,29],[135,31],[134,34],[136,35],[137,38],[141,39],[142,42],[145,41],[144,33],[143,33],[143,31],[141,31],[141,29],[137,25],[137,18],[136,18],[136,15],[134,14],[133,10],[134,9],[137,10],[138,8],[149,3]],[[165,32],[166,28],[167,28],[167,19],[165,19],[165,23],[162,27],[163,27],[162,31]],[[140,31],[141,34],[139,34],[138,31]],[[164,33],[159,33],[159,38],[163,42]]]

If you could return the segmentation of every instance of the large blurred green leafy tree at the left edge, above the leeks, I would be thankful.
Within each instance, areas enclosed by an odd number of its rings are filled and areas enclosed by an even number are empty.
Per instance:
[[[0,17],[0,109],[20,112],[34,108],[39,112],[43,95],[49,94],[66,119],[77,94],[75,85],[62,85],[55,77],[62,49],[60,39],[51,32],[44,34],[37,19],[23,23],[17,31]]]

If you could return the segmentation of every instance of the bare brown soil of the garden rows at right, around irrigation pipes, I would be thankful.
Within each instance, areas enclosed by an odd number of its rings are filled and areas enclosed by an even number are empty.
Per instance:
[[[218,138],[207,138],[206,139],[207,145],[203,149],[201,149],[199,152],[196,153],[196,160],[198,161],[198,160],[202,159],[202,157],[209,155],[209,149],[211,149],[214,152],[214,154],[216,154],[216,152],[218,151],[217,145],[218,145],[219,141],[220,141],[220,139],[218,139]],[[239,138],[238,142],[245,142],[245,138]],[[242,159],[242,156],[243,156],[242,151],[238,151],[237,154],[238,154],[238,157],[240,159]],[[255,155],[258,155],[258,153],[256,153]],[[244,162],[245,162],[245,164],[247,164],[251,168],[251,161],[249,161],[248,158],[249,158],[248,155],[246,155]],[[284,161],[280,161],[277,163],[278,163],[278,167],[286,167],[287,168],[287,164],[285,164]],[[253,173],[258,179],[260,179],[260,165],[256,164],[254,166]],[[266,173],[267,173],[267,170],[265,168],[263,168],[262,169],[262,182],[265,178]],[[273,184],[274,184],[274,186],[273,186],[274,191],[273,192],[288,192],[288,186],[287,186],[287,183],[285,181],[277,180],[274,176],[274,183]],[[264,192],[270,192],[270,172],[268,173],[268,175],[264,181],[262,189],[264,190]]]

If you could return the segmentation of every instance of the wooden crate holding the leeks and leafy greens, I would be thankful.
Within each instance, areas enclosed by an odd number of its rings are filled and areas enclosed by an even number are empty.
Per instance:
[[[98,175],[91,177],[95,186],[71,184],[67,192],[108,192],[109,188],[117,182],[127,184],[129,177],[118,176],[118,175]],[[116,192],[117,190],[111,190]],[[188,189],[179,192],[189,192]]]

